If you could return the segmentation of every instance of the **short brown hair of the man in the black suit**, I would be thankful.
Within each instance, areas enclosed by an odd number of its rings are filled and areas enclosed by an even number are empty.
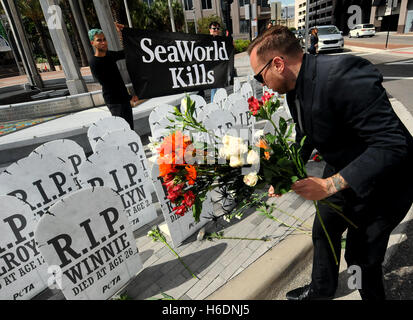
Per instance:
[[[286,26],[275,25],[265,30],[248,46],[248,55],[257,47],[257,56],[266,60],[274,51],[290,57],[298,56],[303,52],[299,40]]]

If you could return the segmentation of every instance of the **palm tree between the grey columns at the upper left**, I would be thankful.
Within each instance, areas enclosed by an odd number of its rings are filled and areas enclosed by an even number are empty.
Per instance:
[[[36,32],[40,37],[40,46],[42,47],[43,52],[46,55],[50,69],[52,71],[55,71],[56,68],[52,60],[52,52],[48,45],[49,39],[43,27],[44,15],[42,8],[40,7],[39,0],[18,0],[17,5],[19,7],[20,13],[33,21]]]

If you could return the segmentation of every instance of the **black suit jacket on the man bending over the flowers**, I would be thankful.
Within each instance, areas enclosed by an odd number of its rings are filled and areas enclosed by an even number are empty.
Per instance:
[[[389,191],[397,188],[397,195],[411,203],[413,181],[402,181],[412,177],[413,138],[393,111],[382,81],[381,73],[363,58],[305,54],[287,102],[297,141],[307,136],[305,161],[316,148],[356,197],[396,194]]]

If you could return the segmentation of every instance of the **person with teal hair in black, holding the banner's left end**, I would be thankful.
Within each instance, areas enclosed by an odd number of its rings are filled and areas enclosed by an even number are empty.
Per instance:
[[[123,29],[123,25],[116,24],[118,30]],[[112,116],[125,119],[131,129],[133,126],[133,113],[131,103],[138,101],[137,96],[131,97],[119,72],[116,61],[125,59],[124,51],[108,50],[103,31],[92,29],[89,31],[89,39],[95,55],[89,61],[90,70],[93,76],[102,85],[103,98],[107,104]]]

